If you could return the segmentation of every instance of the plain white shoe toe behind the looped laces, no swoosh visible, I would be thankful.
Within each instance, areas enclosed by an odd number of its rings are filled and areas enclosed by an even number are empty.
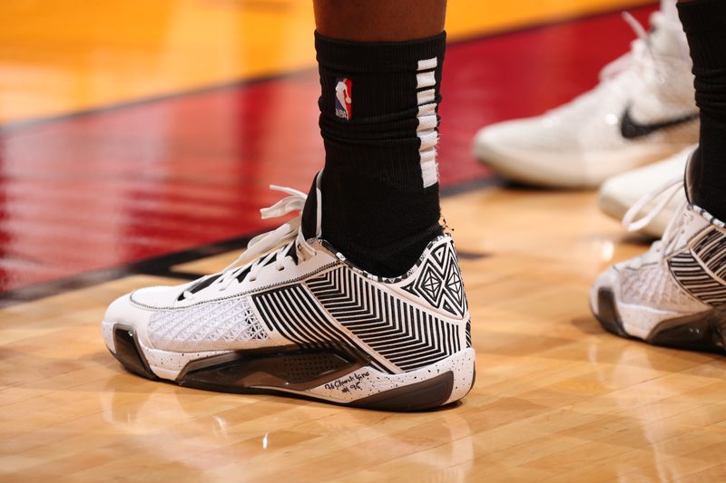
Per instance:
[[[689,146],[671,158],[607,179],[600,187],[597,197],[598,206],[606,215],[618,220],[623,219],[628,209],[648,193],[657,190],[673,179],[682,179],[686,161],[695,148],[695,146]],[[651,237],[662,237],[665,227],[676,216],[684,199],[685,193],[681,189],[658,212],[656,217],[653,217],[647,225],[638,228],[637,231]],[[648,210],[653,207],[654,200],[651,199],[641,209]]]

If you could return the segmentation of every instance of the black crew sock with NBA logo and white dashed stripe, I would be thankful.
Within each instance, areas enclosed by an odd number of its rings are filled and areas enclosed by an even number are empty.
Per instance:
[[[315,46],[322,237],[372,274],[403,275],[442,233],[436,144],[446,34],[359,43],[316,33]]]

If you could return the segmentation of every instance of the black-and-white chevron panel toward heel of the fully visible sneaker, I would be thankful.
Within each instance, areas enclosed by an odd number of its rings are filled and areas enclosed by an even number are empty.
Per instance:
[[[340,324],[403,371],[459,350],[456,325],[378,290],[344,267],[311,278],[306,285]]]

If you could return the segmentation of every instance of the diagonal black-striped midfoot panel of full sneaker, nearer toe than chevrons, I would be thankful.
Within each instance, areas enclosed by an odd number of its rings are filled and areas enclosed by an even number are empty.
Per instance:
[[[292,343],[307,348],[326,343],[348,343],[359,352],[371,355],[329,322],[302,285],[289,285],[253,295],[252,301],[268,328],[277,330]],[[375,359],[370,363],[378,371],[391,373]]]

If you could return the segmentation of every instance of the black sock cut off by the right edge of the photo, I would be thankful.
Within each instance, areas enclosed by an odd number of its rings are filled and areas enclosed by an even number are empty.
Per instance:
[[[714,217],[726,220],[726,2],[679,3],[701,110],[698,157],[689,166],[689,198]]]

